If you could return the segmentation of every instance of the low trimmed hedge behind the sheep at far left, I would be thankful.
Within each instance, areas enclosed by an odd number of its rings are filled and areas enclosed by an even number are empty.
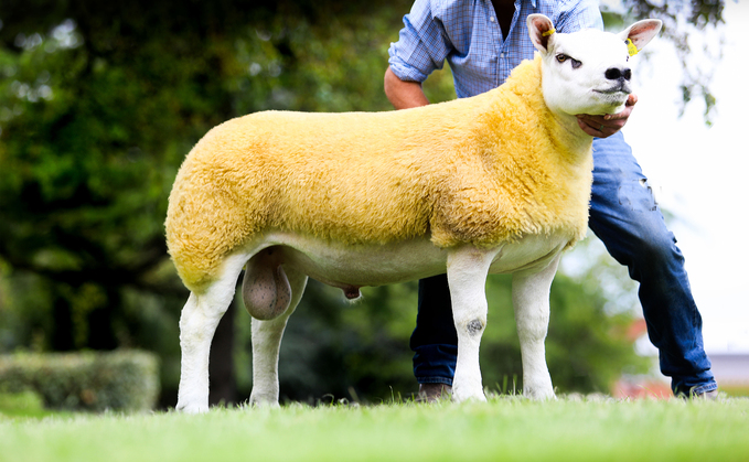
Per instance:
[[[32,390],[51,409],[152,409],[159,361],[139,351],[0,355],[0,393]]]

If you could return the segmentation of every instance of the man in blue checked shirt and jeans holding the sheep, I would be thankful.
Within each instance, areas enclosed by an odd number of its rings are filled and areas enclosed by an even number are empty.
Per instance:
[[[533,58],[526,18],[547,15],[558,32],[603,29],[595,0],[416,0],[404,17],[399,40],[389,49],[385,94],[396,109],[429,104],[421,82],[443,62],[450,64],[458,97],[502,84],[522,60]],[[636,103],[613,116],[578,116],[593,140],[593,185],[589,226],[630,276],[640,282],[640,302],[661,372],[676,396],[714,398],[702,337],[702,318],[692,297],[684,258],[666,228],[630,147],[619,131]],[[419,281],[419,311],[411,335],[419,395],[434,400],[449,394],[458,337],[447,276]]]

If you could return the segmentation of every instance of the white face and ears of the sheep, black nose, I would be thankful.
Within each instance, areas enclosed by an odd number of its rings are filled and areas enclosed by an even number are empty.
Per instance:
[[[546,105],[574,116],[616,114],[624,108],[632,93],[630,54],[645,46],[662,25],[659,20],[644,20],[619,34],[592,29],[565,34],[554,32],[543,14],[531,14],[527,23],[543,58]]]

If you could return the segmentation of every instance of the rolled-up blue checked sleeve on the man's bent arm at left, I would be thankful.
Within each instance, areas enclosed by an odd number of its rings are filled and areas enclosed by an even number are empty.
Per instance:
[[[398,41],[387,51],[390,69],[402,80],[424,82],[445,65],[451,49],[435,13],[430,0],[417,0],[403,18]]]

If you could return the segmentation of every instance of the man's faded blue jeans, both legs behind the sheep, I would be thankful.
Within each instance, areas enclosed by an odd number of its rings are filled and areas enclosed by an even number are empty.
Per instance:
[[[593,140],[590,229],[640,282],[650,341],[675,395],[702,394],[718,385],[705,354],[702,316],[692,297],[684,257],[666,228],[642,169],[624,137]],[[419,311],[410,339],[420,384],[452,384],[458,353],[447,276],[419,281]]]

